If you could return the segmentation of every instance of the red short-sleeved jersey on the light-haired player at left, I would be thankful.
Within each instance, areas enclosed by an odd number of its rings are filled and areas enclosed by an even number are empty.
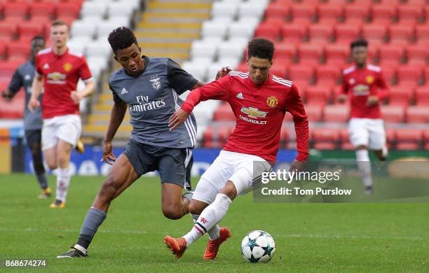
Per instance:
[[[43,76],[43,118],[79,114],[79,104],[70,97],[76,90],[79,78],[92,80],[90,69],[83,55],[70,52],[55,55],[52,48],[40,50],[36,55],[36,72]]]

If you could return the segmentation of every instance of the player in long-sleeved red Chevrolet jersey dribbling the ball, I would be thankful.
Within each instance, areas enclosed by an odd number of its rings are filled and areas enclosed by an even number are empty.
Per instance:
[[[193,193],[189,212],[195,225],[184,237],[164,239],[176,258],[205,233],[210,239],[203,258],[216,257],[219,245],[231,236],[228,228],[219,228],[217,223],[237,195],[248,193],[261,174],[271,170],[286,111],[293,116],[297,134],[298,155],[291,168],[300,171],[307,160],[308,118],[297,86],[269,73],[274,53],[271,41],[254,38],[247,48],[248,73],[231,71],[228,76],[193,90],[170,119],[170,128],[174,130],[196,104],[207,99],[228,102],[236,116],[233,134]]]

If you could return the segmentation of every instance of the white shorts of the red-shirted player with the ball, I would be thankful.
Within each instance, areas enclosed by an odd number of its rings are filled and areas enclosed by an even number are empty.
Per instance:
[[[262,172],[271,170],[266,160],[256,155],[221,151],[213,164],[201,176],[193,192],[193,199],[212,204],[227,181],[236,186],[237,195],[243,195],[256,186]]]

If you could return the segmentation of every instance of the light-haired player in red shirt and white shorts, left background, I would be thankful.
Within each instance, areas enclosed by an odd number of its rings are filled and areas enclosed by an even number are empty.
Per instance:
[[[30,111],[41,106],[43,116],[42,150],[50,169],[57,169],[55,202],[51,208],[64,208],[71,179],[69,167],[71,149],[81,136],[79,102],[94,92],[94,83],[86,58],[67,48],[69,27],[55,21],[50,27],[51,48],[40,50],[36,55],[36,75],[32,83]],[[79,78],[85,83],[76,92]],[[44,90],[40,104],[37,99]]]

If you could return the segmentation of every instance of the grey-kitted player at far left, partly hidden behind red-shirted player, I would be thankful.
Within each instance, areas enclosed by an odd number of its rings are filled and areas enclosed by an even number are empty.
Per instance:
[[[24,87],[25,91],[25,105],[27,106],[30,97],[32,96],[32,82],[34,78],[34,63],[37,52],[45,48],[45,38],[43,36],[34,36],[31,41],[31,55],[30,59],[22,64],[13,73],[11,83],[6,90],[1,92],[1,96],[6,99],[12,99],[16,93]],[[43,94],[39,96],[39,102]],[[25,107],[24,115],[24,129],[25,139],[27,139],[27,146],[29,146],[30,152],[32,153],[33,169],[36,173],[37,181],[42,190],[39,198],[46,199],[50,197],[50,188],[48,187],[48,180],[46,179],[45,167],[43,167],[43,157],[41,151],[41,128],[42,128],[42,117],[41,109],[36,109],[30,112]]]

